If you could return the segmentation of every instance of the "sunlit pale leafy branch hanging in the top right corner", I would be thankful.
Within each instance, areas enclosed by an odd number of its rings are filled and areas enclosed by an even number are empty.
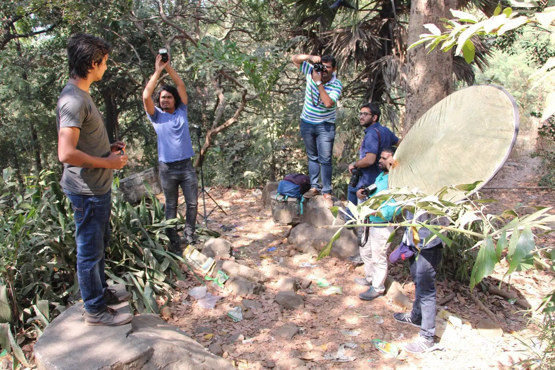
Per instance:
[[[539,7],[543,9],[541,11],[513,11],[509,7],[503,9],[499,3],[493,16],[484,21],[478,21],[470,13],[451,9],[455,19],[442,19],[446,22],[443,26],[447,31],[441,32],[435,24],[425,24],[424,27],[430,33],[421,34],[420,40],[410,45],[409,48],[423,43],[427,43],[426,48],[430,50],[440,47],[444,52],[450,52],[455,48],[455,55],[462,54],[470,63],[476,55],[476,46],[472,37],[502,37],[507,31],[521,28],[525,24],[534,27],[536,31],[548,34],[551,44],[555,45],[555,28],[552,26],[552,22],[555,20],[555,2],[553,0],[548,0],[542,6],[533,1],[524,3],[512,0],[511,3],[520,8]],[[542,62],[541,59],[539,61]],[[555,67],[555,57],[544,61],[542,67],[536,72],[537,81],[534,87],[548,78],[555,77],[553,67]],[[553,113],[555,113],[555,90],[551,89],[545,98],[542,120],[548,119]]]

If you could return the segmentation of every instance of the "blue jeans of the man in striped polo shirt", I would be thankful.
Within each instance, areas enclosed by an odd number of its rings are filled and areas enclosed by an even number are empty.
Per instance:
[[[301,119],[301,138],[309,159],[310,187],[331,193],[331,155],[334,149],[335,123],[311,124]],[[318,184],[322,172],[322,186]]]

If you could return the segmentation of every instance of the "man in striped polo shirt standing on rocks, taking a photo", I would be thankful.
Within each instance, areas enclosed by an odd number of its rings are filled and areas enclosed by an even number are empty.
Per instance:
[[[309,159],[310,190],[304,197],[322,193],[327,207],[331,200],[331,155],[334,149],[336,103],[343,85],[335,77],[336,60],[331,55],[296,54],[291,58],[306,76],[305,102],[301,114],[301,137]],[[326,67],[321,73],[312,69],[312,63]],[[322,173],[322,186],[318,184]]]

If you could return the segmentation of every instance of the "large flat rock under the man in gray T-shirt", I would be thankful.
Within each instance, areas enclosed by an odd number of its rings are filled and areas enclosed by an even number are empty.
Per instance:
[[[114,307],[129,310],[127,302]],[[83,312],[77,303],[44,330],[33,348],[38,370],[233,369],[158,315],[137,315],[130,324],[105,327],[84,325]]]

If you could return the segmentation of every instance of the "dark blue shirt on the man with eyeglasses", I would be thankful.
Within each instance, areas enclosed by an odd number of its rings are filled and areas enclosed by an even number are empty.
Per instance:
[[[379,143],[377,131],[380,131]],[[362,176],[360,176],[357,187],[374,184],[377,176],[382,172],[378,167],[378,161],[380,160],[382,150],[398,142],[399,138],[397,138],[390,129],[382,126],[379,122],[376,122],[364,130],[364,139],[362,139],[362,143],[360,144],[359,159],[364,158],[366,153],[374,153],[376,154],[376,161],[371,166],[361,168]]]

